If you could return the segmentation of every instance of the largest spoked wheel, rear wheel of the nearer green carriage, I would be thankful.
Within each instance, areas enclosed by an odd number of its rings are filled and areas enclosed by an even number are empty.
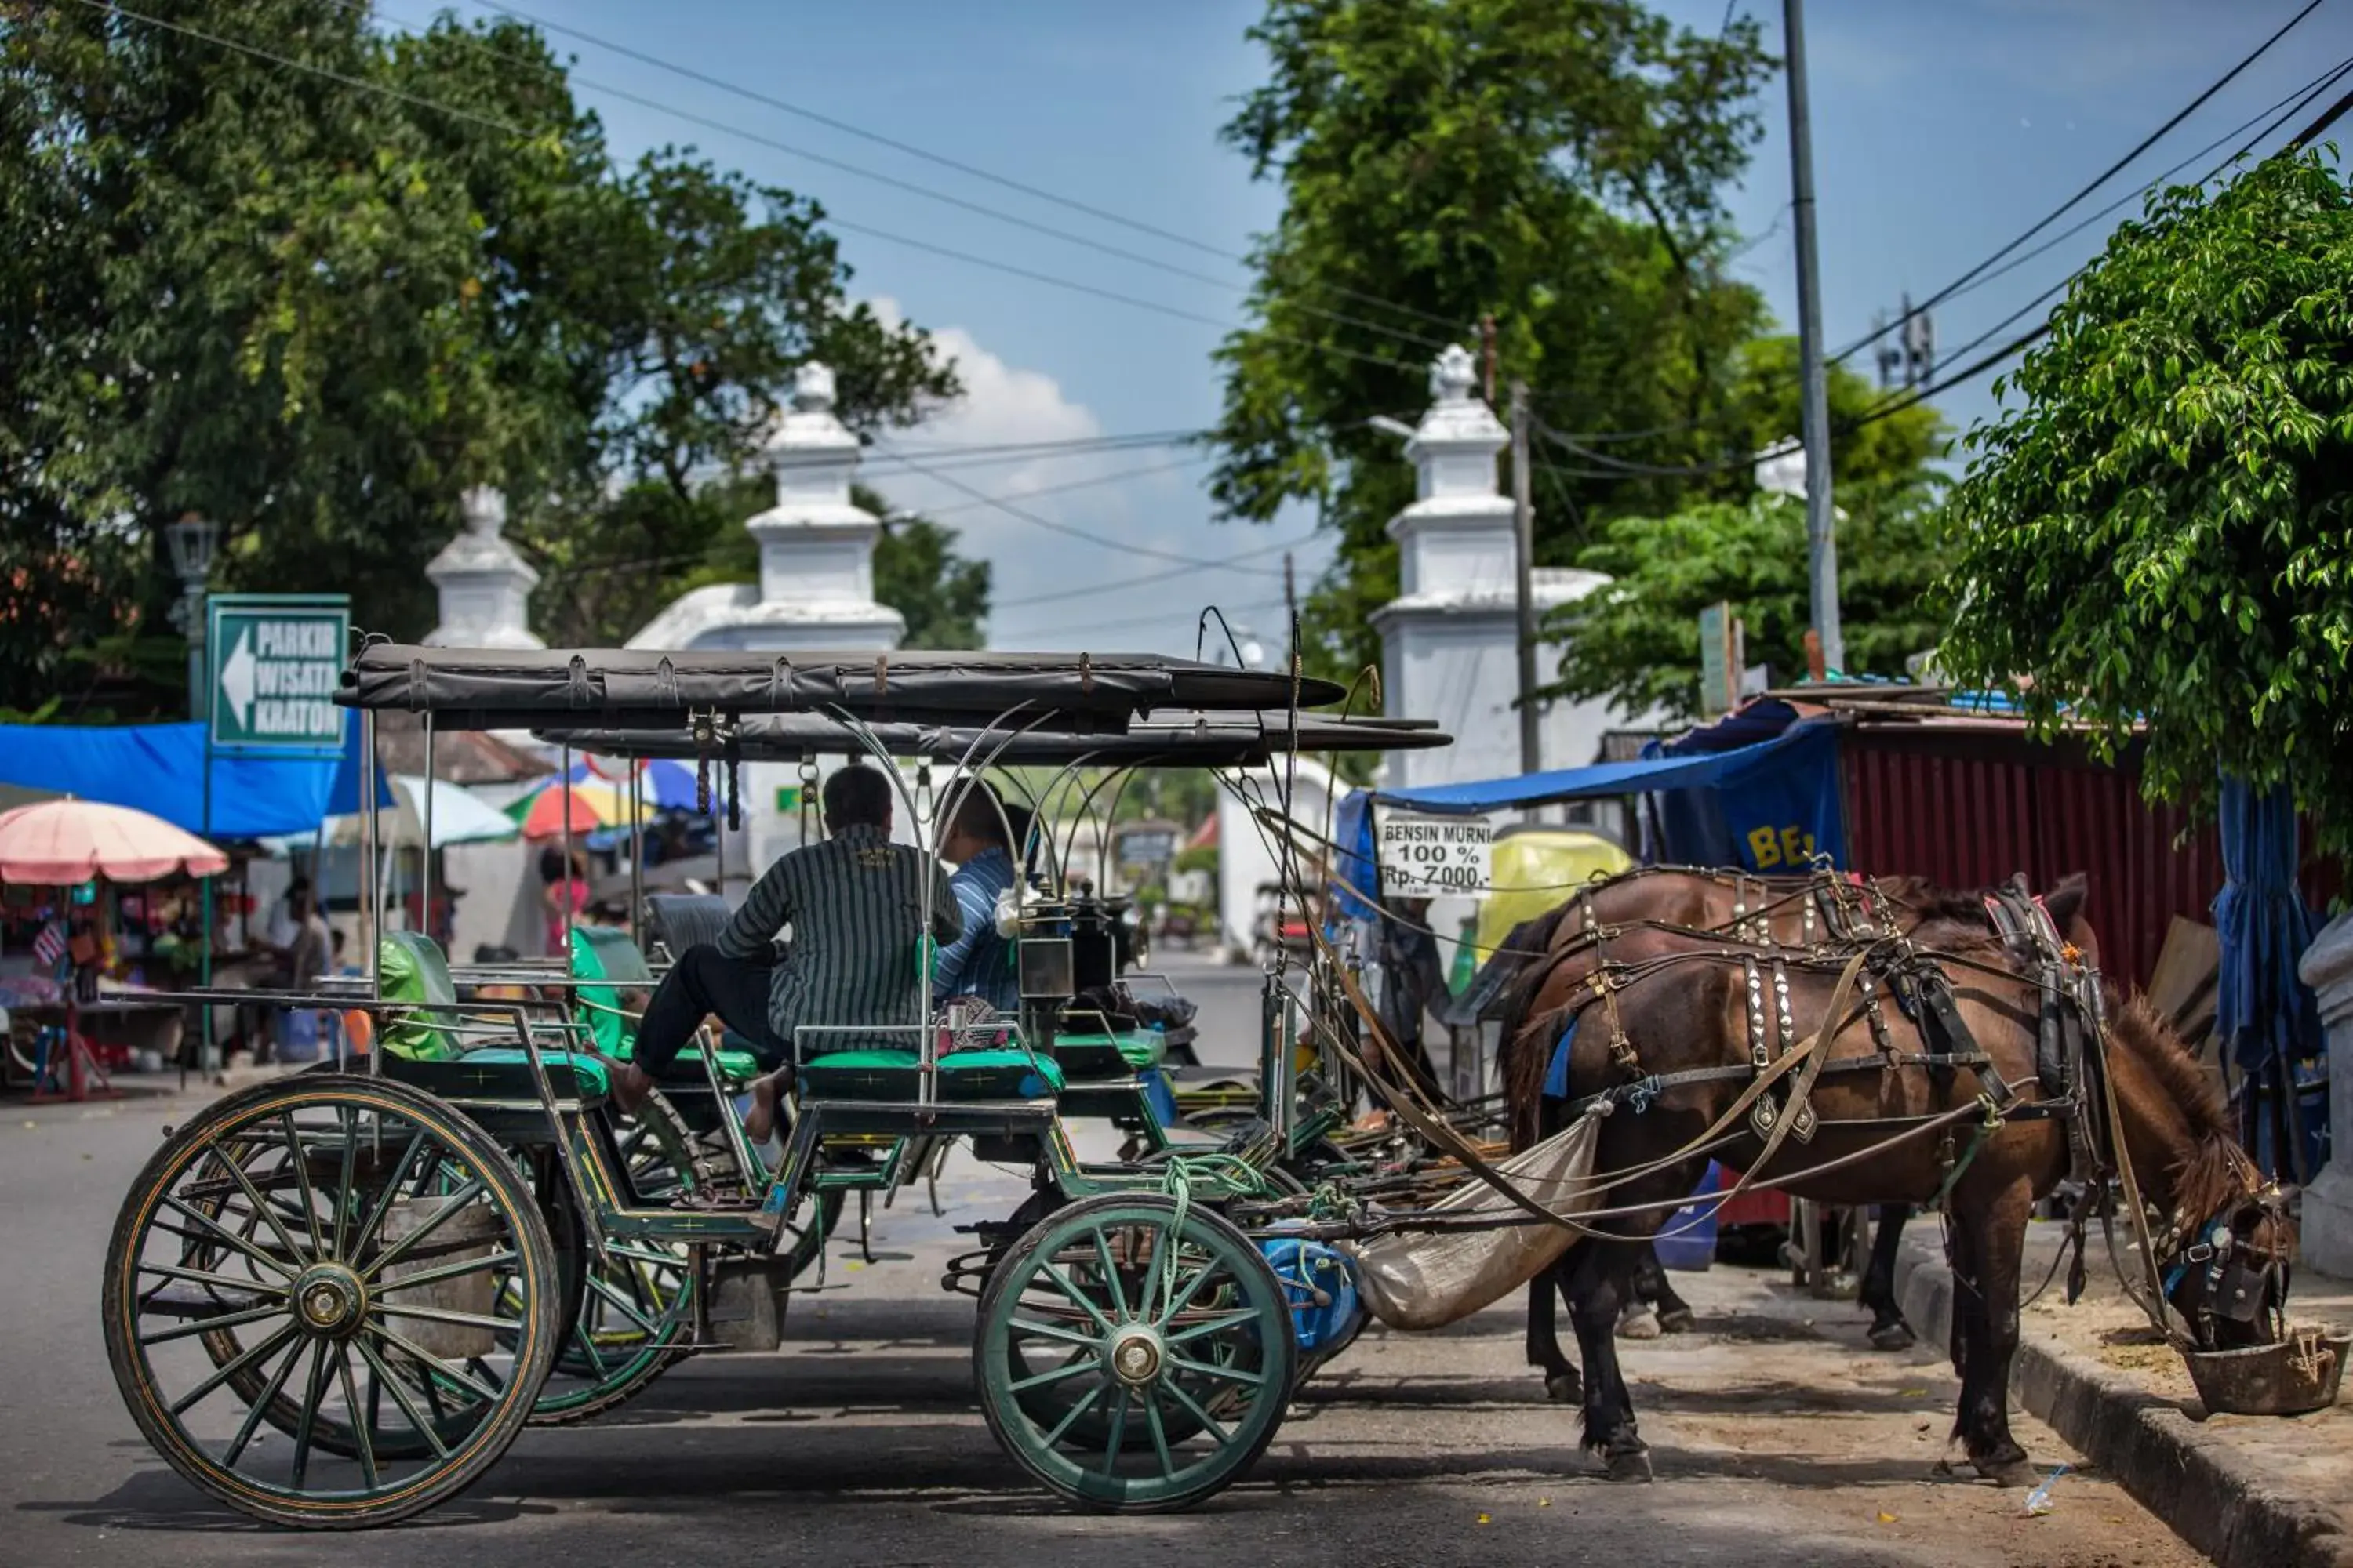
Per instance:
[[[181,1476],[254,1519],[348,1530],[499,1460],[560,1295],[541,1208],[473,1121],[405,1084],[296,1074],[207,1107],[139,1173],[106,1354]]]

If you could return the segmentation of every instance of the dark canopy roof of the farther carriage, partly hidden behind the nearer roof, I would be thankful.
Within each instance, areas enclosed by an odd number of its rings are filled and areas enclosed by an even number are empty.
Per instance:
[[[1289,712],[1169,712],[1155,710],[1118,733],[1071,733],[1028,729],[1012,722],[995,729],[972,724],[871,724],[875,743],[894,757],[934,762],[1104,766],[1254,766],[1285,752],[1398,752],[1452,745],[1452,736],[1428,719],[1339,719]],[[555,729],[539,741],[569,745],[593,757],[734,757],[741,762],[798,762],[852,745],[840,724],[824,715],[753,715],[715,745],[696,745],[682,729]]]

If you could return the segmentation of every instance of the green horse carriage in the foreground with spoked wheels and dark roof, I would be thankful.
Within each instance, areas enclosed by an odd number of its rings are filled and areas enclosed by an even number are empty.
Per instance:
[[[440,726],[539,729],[607,755],[668,748],[736,790],[746,759],[908,757],[911,785],[887,773],[925,849],[939,762],[958,776],[1247,766],[1445,743],[1299,712],[1339,698],[1325,682],[1139,656],[381,644],[339,693],[369,731],[374,712],[405,710],[428,745]],[[367,896],[381,931],[384,889]],[[188,1481],[256,1519],[412,1516],[473,1483],[532,1420],[607,1410],[687,1354],[774,1347],[842,1197],[906,1185],[965,1143],[1031,1168],[1035,1187],[984,1229],[969,1269],[976,1385],[1005,1450],[1085,1507],[1214,1495],[1266,1448],[1301,1366],[1301,1284],[1221,1213],[1264,1197],[1313,1133],[1297,1117],[1297,994],[1271,980],[1261,1006],[1261,1117],[1226,1140],[1172,1133],[1141,1077],[1148,1041],[1073,1013],[1082,964],[1101,961],[1080,950],[1108,940],[1104,912],[1064,877],[1007,931],[1019,1018],[969,1039],[925,987],[915,1027],[805,1034],[774,1164],[736,1110],[758,1063],[725,1041],[616,1114],[607,1060],[626,1056],[628,994],[652,983],[659,947],[584,933],[572,978],[548,987],[454,971],[426,938],[388,936],[365,994],[285,999],[367,1016],[365,1074],[226,1095],[132,1187],[104,1328],[134,1420]],[[925,952],[911,961],[927,969]],[[536,994],[492,990],[515,978]],[[1080,1159],[1066,1121],[1096,1117],[1132,1131],[1127,1159]]]

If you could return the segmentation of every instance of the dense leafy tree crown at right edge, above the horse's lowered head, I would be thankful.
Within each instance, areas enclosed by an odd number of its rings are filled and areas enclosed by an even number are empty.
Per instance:
[[[2108,240],[1969,435],[1939,663],[2209,802],[2289,785],[2353,860],[2353,195],[2282,155]],[[2002,386],[2002,383],[1998,383]]]

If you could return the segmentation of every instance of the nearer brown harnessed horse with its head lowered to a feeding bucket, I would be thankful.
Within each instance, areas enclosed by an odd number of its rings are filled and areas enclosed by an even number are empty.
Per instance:
[[[2078,914],[2080,889],[2054,891],[2045,905],[2066,929]],[[1560,1265],[1586,1359],[1584,1436],[1605,1455],[1612,1476],[1649,1474],[1612,1338],[1638,1246],[1692,1192],[1708,1157],[1692,1143],[1751,1091],[1758,1034],[1805,1048],[1826,1018],[1819,1077],[1807,1098],[1819,1119],[1809,1140],[1784,1131],[1767,1159],[1765,1135],[1748,1117],[1737,1117],[1715,1157],[1826,1204],[1941,1199],[1962,1284],[1951,1342],[1962,1373],[1953,1436],[1981,1474],[2005,1476],[2024,1465],[2007,1415],[2019,1258],[2035,1199],[2068,1171],[2068,1121],[2033,1110],[2064,1110],[2038,1077],[2047,1001],[2040,954],[1995,933],[1974,896],[1920,898],[1911,914],[1911,938],[1812,957],[1744,950],[1708,933],[1631,929],[1607,940],[1605,992],[1593,985],[1593,966],[1584,973],[1560,966],[1541,978],[1525,1023],[1506,1041],[1515,1112],[1555,1126],[1562,1110],[1544,1100],[1544,1074],[1553,1041],[1577,1016],[1572,1095],[1617,1100],[1600,1124],[1595,1171],[1647,1168],[1612,1187],[1607,1201],[1649,1208],[1609,1220],[1609,1237],[1577,1244]],[[1758,987],[1744,959],[1758,961]],[[1854,980],[1864,966],[1878,971],[1880,1009],[1857,1001]],[[1774,1018],[1777,980],[1786,983],[1786,1023],[1760,1030],[1760,1020]],[[1948,1001],[1944,1016],[1958,1020],[1958,1037],[1927,1023],[1939,1016],[1929,1006],[1939,994]],[[2252,1342],[2268,1326],[2266,1309],[2285,1293],[2285,1211],[2261,1187],[2217,1095],[2155,1013],[2137,1001],[2115,1013],[2104,1039],[2099,1058],[2120,1110],[2115,1157],[2129,1159],[2144,1197],[2167,1215],[2158,1251],[2179,1260],[2200,1237],[2212,1241],[2219,1227],[2233,1239],[2226,1251],[2249,1269],[2235,1284],[2259,1281],[2252,1314],[2214,1312],[2217,1269],[2177,1272],[2172,1300],[2205,1342]],[[1788,1048],[1784,1044],[1781,1056]],[[1807,1072],[1814,1070],[1809,1063]],[[2099,1100],[2097,1079],[2075,1088]],[[1993,1105],[2007,1110],[1993,1117]],[[1793,1121],[1802,1117],[1781,1105],[1779,1124]]]

